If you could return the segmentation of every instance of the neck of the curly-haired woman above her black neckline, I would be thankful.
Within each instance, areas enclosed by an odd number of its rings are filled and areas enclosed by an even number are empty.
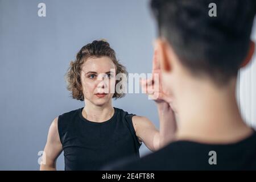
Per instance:
[[[82,116],[89,121],[104,122],[108,121],[114,115],[112,103],[97,106],[89,101],[85,101],[85,107],[82,109]]]

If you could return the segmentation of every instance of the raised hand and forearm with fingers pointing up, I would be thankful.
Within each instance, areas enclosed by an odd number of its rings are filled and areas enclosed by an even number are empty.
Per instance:
[[[177,131],[177,122],[172,103],[173,97],[163,85],[162,72],[158,59],[158,49],[155,49],[152,65],[152,78],[141,80],[141,86],[144,93],[156,102],[159,115],[159,141],[160,146],[175,140]]]

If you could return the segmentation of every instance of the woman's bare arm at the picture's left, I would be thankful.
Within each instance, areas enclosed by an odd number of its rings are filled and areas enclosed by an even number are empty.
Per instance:
[[[58,117],[55,118],[49,127],[46,146],[44,147],[41,165],[56,167],[56,159],[63,151],[58,131]]]

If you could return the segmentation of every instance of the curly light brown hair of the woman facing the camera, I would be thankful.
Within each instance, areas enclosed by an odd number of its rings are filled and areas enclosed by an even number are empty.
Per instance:
[[[108,56],[116,67],[116,75],[118,73],[124,73],[128,75],[126,68],[119,63],[115,57],[115,51],[110,47],[109,43],[106,40],[94,40],[92,43],[86,44],[82,47],[76,55],[76,60],[71,61],[67,73],[65,73],[65,80],[67,82],[67,89],[71,91],[71,97],[76,100],[84,101],[84,94],[82,93],[82,84],[81,84],[81,67],[82,64],[89,57],[101,57]],[[115,85],[122,80],[116,80]],[[112,98],[121,98],[124,97],[125,93],[115,92]]]

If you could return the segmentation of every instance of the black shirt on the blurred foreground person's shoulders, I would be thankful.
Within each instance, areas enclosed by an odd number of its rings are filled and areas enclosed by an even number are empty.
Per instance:
[[[141,159],[123,160],[114,170],[256,170],[256,133],[231,144],[179,140]],[[128,163],[127,163],[128,162]]]

